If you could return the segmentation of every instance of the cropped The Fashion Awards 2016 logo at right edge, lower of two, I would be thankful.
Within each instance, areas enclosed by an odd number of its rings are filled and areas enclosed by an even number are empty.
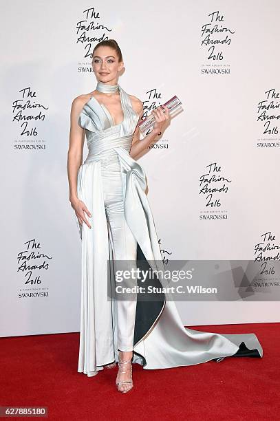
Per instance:
[[[261,234],[259,243],[255,244],[255,262],[259,270],[255,275],[253,286],[257,288],[280,287],[280,244],[271,231]]]

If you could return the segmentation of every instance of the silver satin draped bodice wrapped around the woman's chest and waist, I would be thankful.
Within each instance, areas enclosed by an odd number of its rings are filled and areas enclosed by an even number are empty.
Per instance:
[[[129,95],[120,85],[119,91],[124,118],[118,125],[114,125],[107,107],[94,96],[83,106],[78,124],[85,129],[89,149],[85,162],[100,161],[101,166],[107,166],[118,162],[114,148],[122,147],[128,153],[130,151],[139,116],[133,110]]]

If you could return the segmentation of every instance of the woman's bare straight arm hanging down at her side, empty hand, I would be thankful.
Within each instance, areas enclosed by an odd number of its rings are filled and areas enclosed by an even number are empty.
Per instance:
[[[72,102],[70,114],[69,149],[67,153],[67,173],[69,182],[69,201],[74,208],[78,221],[84,221],[89,228],[89,222],[84,212],[90,217],[89,210],[83,202],[78,199],[77,175],[80,165],[83,163],[83,146],[85,142],[85,131],[78,125],[78,117],[85,104],[85,98],[78,96]]]

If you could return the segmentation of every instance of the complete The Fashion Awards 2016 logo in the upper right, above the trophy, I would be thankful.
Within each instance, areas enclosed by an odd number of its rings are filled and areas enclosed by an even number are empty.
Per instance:
[[[202,74],[230,74],[227,53],[233,34],[235,31],[227,27],[226,19],[219,10],[208,14],[201,29],[200,46],[204,52]]]

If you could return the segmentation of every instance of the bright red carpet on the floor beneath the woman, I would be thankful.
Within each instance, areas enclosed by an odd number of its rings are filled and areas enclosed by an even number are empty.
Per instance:
[[[116,390],[116,367],[92,378],[76,371],[77,333],[1,338],[0,405],[45,406],[50,420],[278,420],[279,325],[192,326],[254,332],[263,358],[160,370],[133,364],[129,393]]]

